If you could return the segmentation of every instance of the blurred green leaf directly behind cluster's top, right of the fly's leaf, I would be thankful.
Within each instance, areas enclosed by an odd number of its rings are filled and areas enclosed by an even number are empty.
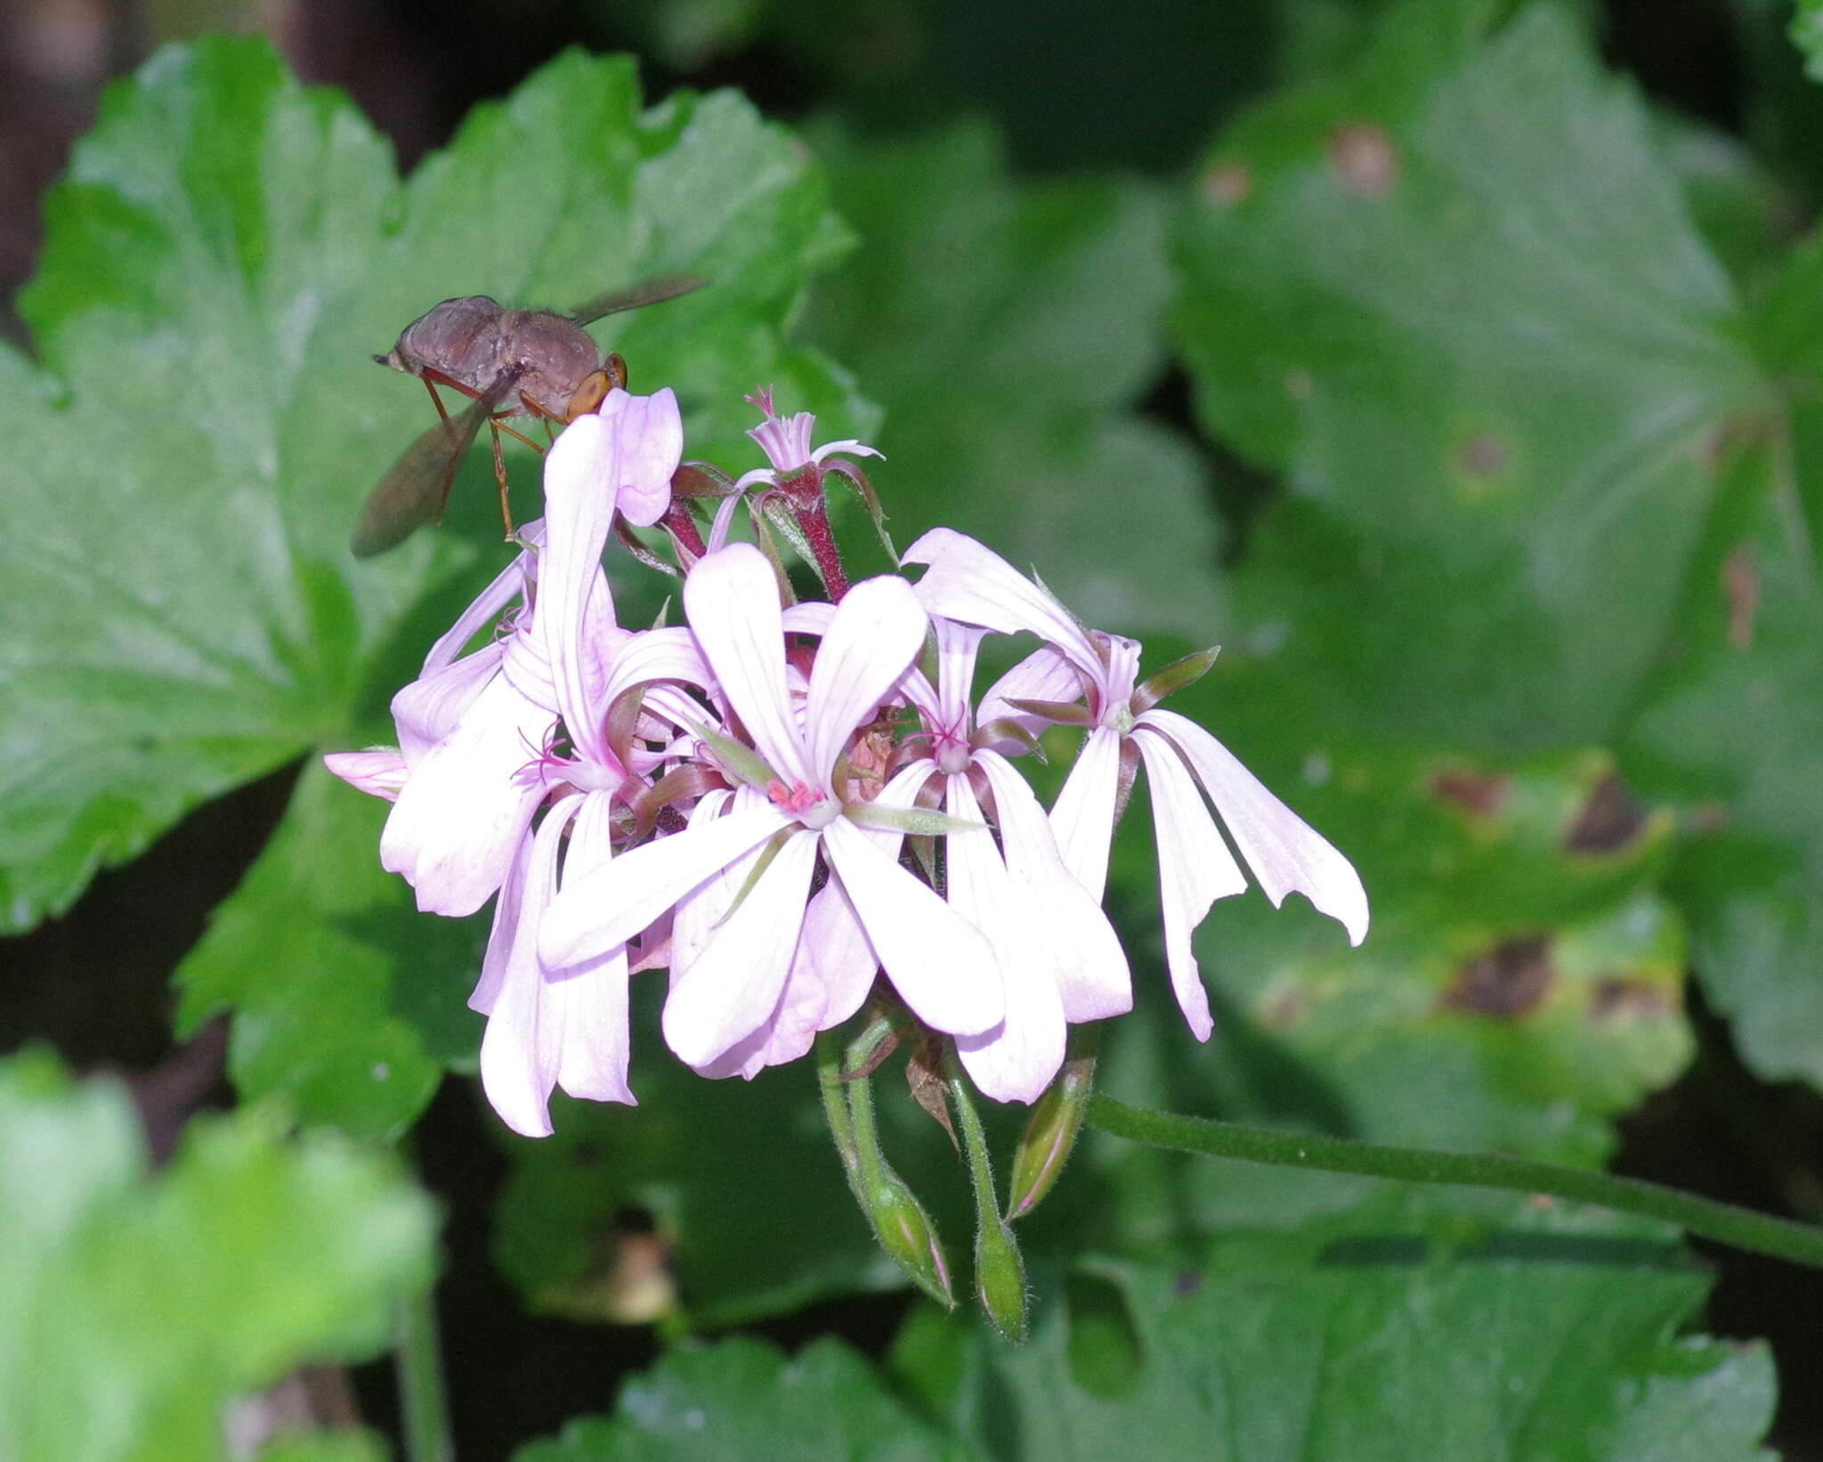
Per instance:
[[[1092,623],[1207,643],[1203,474],[1134,412],[1163,368],[1159,197],[1014,184],[979,126],[819,151],[866,250],[819,288],[809,334],[891,401],[868,476],[895,541],[946,523],[1037,563]]]

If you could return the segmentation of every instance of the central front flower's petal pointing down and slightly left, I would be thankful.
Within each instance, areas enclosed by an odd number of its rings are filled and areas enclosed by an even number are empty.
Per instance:
[[[700,1066],[758,1030],[778,1003],[804,922],[817,835],[786,839],[665,1001],[665,1045]]]

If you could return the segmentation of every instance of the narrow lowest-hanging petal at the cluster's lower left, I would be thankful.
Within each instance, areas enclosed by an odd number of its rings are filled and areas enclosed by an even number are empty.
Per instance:
[[[521,1138],[551,1136],[549,1103],[561,1057],[561,1030],[552,1028],[554,1012],[545,1001],[538,921],[556,884],[563,829],[580,802],[580,797],[567,797],[554,806],[530,842],[512,944],[481,1035],[481,1090],[501,1121]]]

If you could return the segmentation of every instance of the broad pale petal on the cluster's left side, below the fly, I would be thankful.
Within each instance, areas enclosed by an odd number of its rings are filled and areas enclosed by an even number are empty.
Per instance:
[[[494,676],[458,727],[412,767],[379,839],[379,862],[427,913],[474,913],[507,877],[545,789],[520,769],[551,713]]]

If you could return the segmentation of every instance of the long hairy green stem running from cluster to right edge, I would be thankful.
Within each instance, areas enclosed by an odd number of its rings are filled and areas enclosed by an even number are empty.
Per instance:
[[[1096,1092],[1088,1103],[1088,1125],[1116,1138],[1201,1152],[1210,1158],[1238,1158],[1243,1163],[1318,1169],[1322,1172],[1360,1172],[1371,1178],[1396,1178],[1407,1183],[1458,1183],[1473,1189],[1511,1189],[1542,1192],[1577,1203],[1599,1203],[1630,1214],[1644,1214],[1701,1234],[1703,1238],[1772,1254],[1792,1263],[1823,1269],[1823,1229],[1788,1218],[1715,1203],[1639,1178],[1610,1178],[1606,1172],[1537,1163],[1528,1158],[1499,1158],[1477,1152],[1426,1152],[1411,1147],[1378,1147],[1347,1138],[1311,1138],[1269,1132],[1207,1117],[1181,1117],[1127,1107]]]

